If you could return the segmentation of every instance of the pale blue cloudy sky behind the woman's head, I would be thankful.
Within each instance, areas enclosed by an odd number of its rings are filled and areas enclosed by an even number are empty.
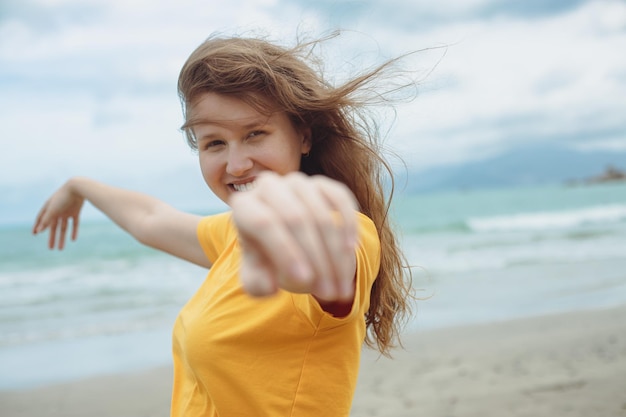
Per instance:
[[[623,0],[0,0],[0,215],[73,175],[219,207],[179,130],[185,59],[213,33],[337,29],[329,79],[420,51],[401,62],[417,95],[380,112],[410,170],[528,144],[626,150]]]

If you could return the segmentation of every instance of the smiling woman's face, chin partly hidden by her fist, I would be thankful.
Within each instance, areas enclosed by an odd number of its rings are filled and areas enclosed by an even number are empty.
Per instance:
[[[191,117],[202,176],[224,202],[254,186],[262,171],[298,171],[311,149],[308,132],[297,130],[284,112],[267,116],[235,97],[205,93]]]

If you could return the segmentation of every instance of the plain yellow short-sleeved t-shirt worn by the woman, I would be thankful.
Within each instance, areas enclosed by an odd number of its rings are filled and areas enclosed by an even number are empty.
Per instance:
[[[245,293],[230,213],[203,219],[198,239],[213,267],[174,326],[172,417],[348,416],[380,265],[372,221],[359,215],[356,293],[343,318],[310,294]]]

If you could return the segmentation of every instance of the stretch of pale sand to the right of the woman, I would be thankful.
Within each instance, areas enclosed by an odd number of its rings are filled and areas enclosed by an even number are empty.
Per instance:
[[[626,416],[626,307],[412,335],[368,352],[353,416]]]

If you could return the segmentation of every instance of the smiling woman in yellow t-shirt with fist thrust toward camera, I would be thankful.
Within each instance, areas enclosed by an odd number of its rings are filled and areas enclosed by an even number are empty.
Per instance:
[[[347,416],[363,341],[388,354],[409,311],[387,165],[357,99],[388,64],[333,87],[305,63],[314,45],[211,38],[183,66],[183,130],[229,212],[73,178],[35,222],[62,249],[88,200],[210,268],[174,327],[172,416]]]

